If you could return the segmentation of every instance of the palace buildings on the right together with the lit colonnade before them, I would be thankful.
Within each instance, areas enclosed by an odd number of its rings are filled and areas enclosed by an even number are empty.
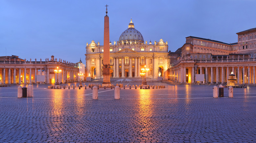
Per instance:
[[[226,83],[231,71],[236,84],[255,84],[256,28],[238,32],[237,43],[224,43],[199,37],[186,37],[181,57],[170,64],[171,80],[196,83],[204,74],[206,83]]]

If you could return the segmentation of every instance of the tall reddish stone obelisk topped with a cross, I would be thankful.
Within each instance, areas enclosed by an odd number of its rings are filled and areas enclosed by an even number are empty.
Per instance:
[[[103,83],[102,86],[111,86],[110,83],[110,51],[109,51],[109,17],[108,5],[106,5],[106,16],[104,17],[104,46],[103,46]]]

